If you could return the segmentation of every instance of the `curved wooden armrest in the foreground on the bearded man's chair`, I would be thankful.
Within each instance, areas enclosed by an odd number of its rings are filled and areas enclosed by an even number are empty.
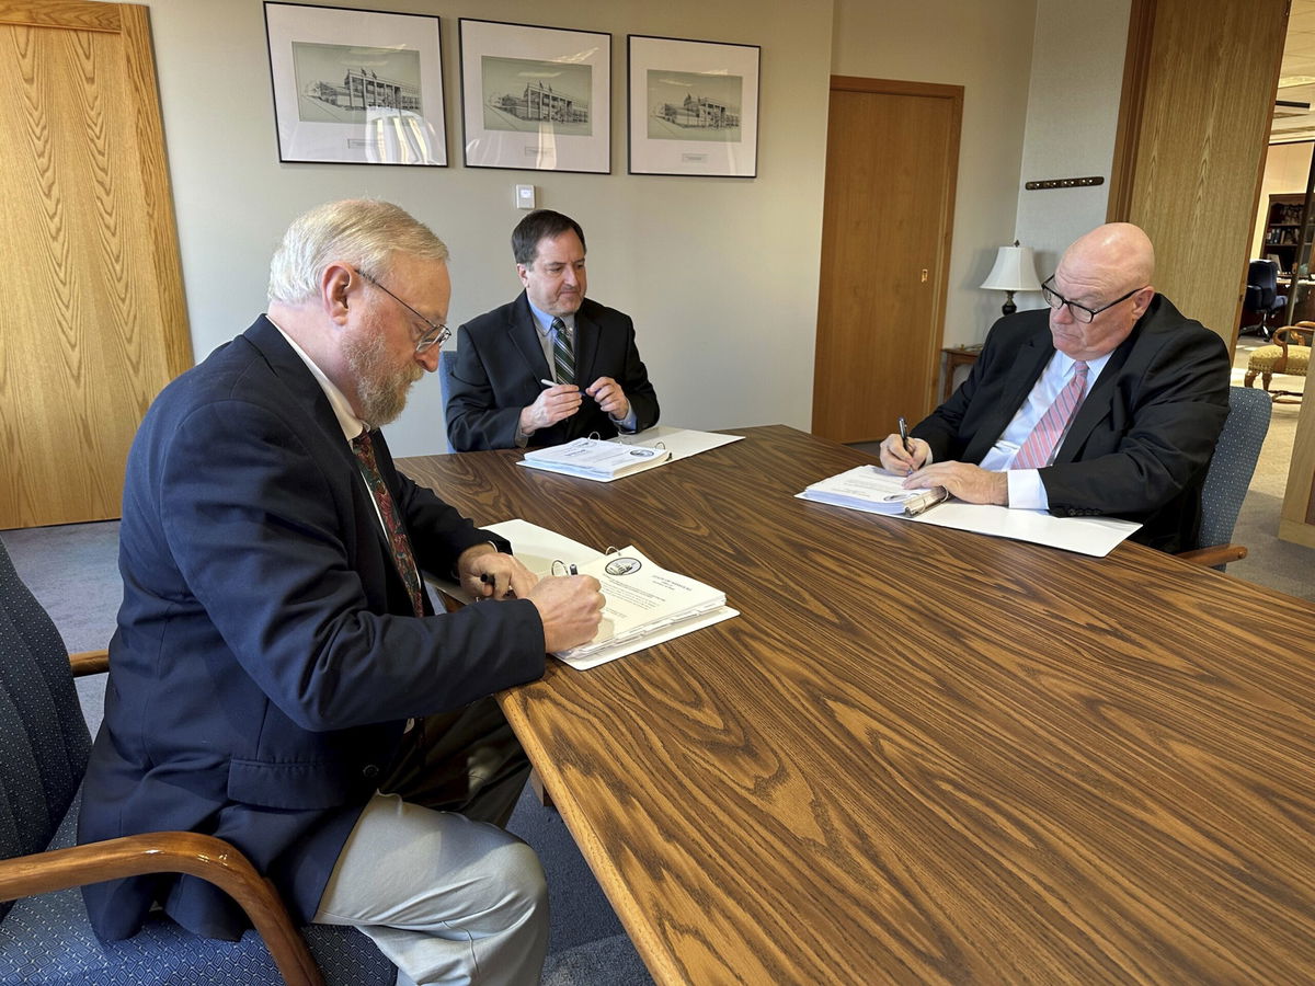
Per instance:
[[[237,848],[214,836],[147,832],[0,860],[0,901],[146,873],[188,873],[214,883],[246,911],[288,983],[323,986],[274,885]]]

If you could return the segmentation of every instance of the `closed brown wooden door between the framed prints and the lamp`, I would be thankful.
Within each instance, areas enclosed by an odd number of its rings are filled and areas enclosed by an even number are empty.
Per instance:
[[[813,431],[885,438],[935,406],[961,85],[831,78]]]

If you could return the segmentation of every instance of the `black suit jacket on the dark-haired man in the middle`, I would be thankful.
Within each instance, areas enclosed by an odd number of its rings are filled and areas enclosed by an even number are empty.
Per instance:
[[[514,448],[521,409],[543,390],[552,371],[543,356],[530,302],[521,296],[456,330],[456,371],[447,398],[447,440],[458,452]],[[610,376],[635,410],[635,430],[658,423],[658,394],[635,347],[630,316],[585,298],[576,312],[576,381],[583,390]],[[530,446],[558,446],[598,433],[611,438],[617,426],[589,394],[580,410],[530,435]]]

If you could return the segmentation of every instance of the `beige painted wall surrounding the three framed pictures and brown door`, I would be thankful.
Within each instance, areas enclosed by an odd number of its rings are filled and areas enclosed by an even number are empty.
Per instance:
[[[1126,20],[1127,0],[1116,1]],[[1063,12],[1072,3],[1040,0],[1040,9]],[[327,199],[380,196],[430,222],[454,250],[454,325],[509,300],[519,285],[506,241],[522,214],[512,189],[533,183],[540,205],[585,226],[590,294],[635,317],[664,422],[807,429],[831,74],[965,87],[947,344],[981,339],[998,312],[999,298],[977,285],[995,247],[1011,242],[1024,221],[1018,189],[1024,128],[1032,128],[1036,0],[580,0],[551,12],[523,0],[342,3],[442,17],[451,164],[438,170],[279,163],[259,0],[147,5],[199,359],[263,309],[266,264],[279,234]],[[463,16],[613,34],[613,174],[463,167]],[[757,179],[626,174],[629,33],[761,46]],[[1053,105],[1063,112],[1063,100]],[[1090,109],[1103,117],[1115,112],[1109,104]],[[1038,126],[1028,133],[1043,134],[1044,120]],[[389,430],[394,451],[441,451],[437,381],[414,394]]]

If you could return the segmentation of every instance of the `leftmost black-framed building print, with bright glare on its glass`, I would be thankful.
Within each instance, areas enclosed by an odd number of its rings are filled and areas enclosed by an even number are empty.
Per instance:
[[[446,167],[439,18],[264,4],[281,162]]]

